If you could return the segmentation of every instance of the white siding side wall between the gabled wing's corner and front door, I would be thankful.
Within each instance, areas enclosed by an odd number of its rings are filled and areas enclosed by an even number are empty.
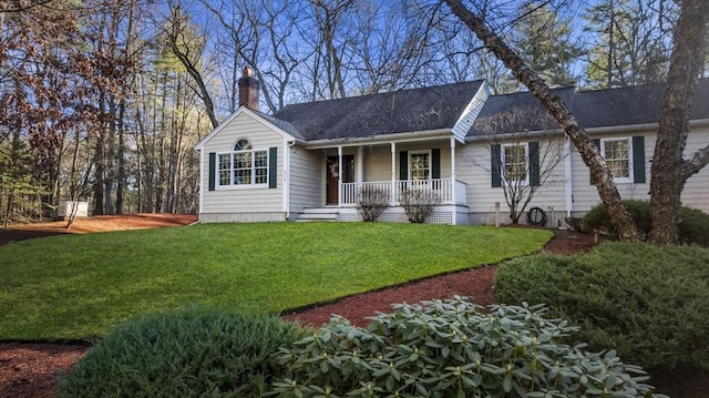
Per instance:
[[[307,151],[299,145],[290,147],[291,213],[301,213],[304,207],[320,206],[323,191],[322,162],[320,151]]]

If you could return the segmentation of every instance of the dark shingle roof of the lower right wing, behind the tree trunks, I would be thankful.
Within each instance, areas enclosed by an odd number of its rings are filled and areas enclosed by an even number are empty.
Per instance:
[[[667,84],[649,84],[630,88],[575,91],[574,88],[553,90],[585,129],[657,123],[659,121]],[[487,99],[480,116],[470,129],[467,137],[491,133],[510,133],[508,124],[490,123],[513,110],[520,111],[521,119],[516,131],[557,129],[549,121],[540,101],[530,92],[493,95]],[[545,120],[546,119],[546,120]],[[691,120],[709,119],[709,79],[700,79],[692,100]],[[491,125],[496,131],[491,131]]]

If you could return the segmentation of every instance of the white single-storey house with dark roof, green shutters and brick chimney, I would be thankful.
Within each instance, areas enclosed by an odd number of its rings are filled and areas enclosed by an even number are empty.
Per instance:
[[[473,81],[266,114],[258,90],[245,69],[240,106],[195,146],[201,222],[358,221],[358,193],[370,187],[389,195],[380,221],[407,221],[399,197],[415,188],[440,198],[427,222],[492,224],[496,204],[507,221],[502,181],[537,184],[540,170],[544,183],[527,208],[547,213],[547,225],[599,202],[579,154],[530,93],[490,95]],[[648,198],[665,86],[556,92],[595,139],[623,197]],[[490,123],[511,114],[515,123]],[[689,130],[686,153],[709,145],[709,79],[697,89]],[[542,140],[561,149],[554,167],[540,156]],[[709,212],[708,195],[705,169],[687,182],[682,203]]]

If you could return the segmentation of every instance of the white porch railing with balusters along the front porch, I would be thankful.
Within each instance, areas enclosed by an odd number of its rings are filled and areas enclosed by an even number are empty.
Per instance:
[[[453,197],[453,184],[455,184],[455,197]],[[441,197],[441,204],[465,204],[466,184],[451,178],[440,180],[400,180],[400,181],[372,181],[362,183],[342,183],[341,201],[343,205],[357,204],[357,198],[362,188],[382,190],[389,193],[390,205],[399,203],[399,195],[407,190],[430,190]]]

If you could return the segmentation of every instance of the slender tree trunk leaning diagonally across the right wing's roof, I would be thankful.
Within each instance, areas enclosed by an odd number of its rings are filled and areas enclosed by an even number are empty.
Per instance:
[[[621,241],[638,241],[639,234],[630,214],[620,203],[620,194],[613,181],[606,161],[594,145],[590,136],[578,124],[564,101],[554,94],[544,79],[531,70],[495,32],[462,6],[460,0],[445,0],[451,11],[470,28],[495,57],[507,67],[514,76],[536,96],[546,111],[564,129],[572,140],[584,163],[590,170],[600,200],[608,208],[610,223],[618,231]]]

